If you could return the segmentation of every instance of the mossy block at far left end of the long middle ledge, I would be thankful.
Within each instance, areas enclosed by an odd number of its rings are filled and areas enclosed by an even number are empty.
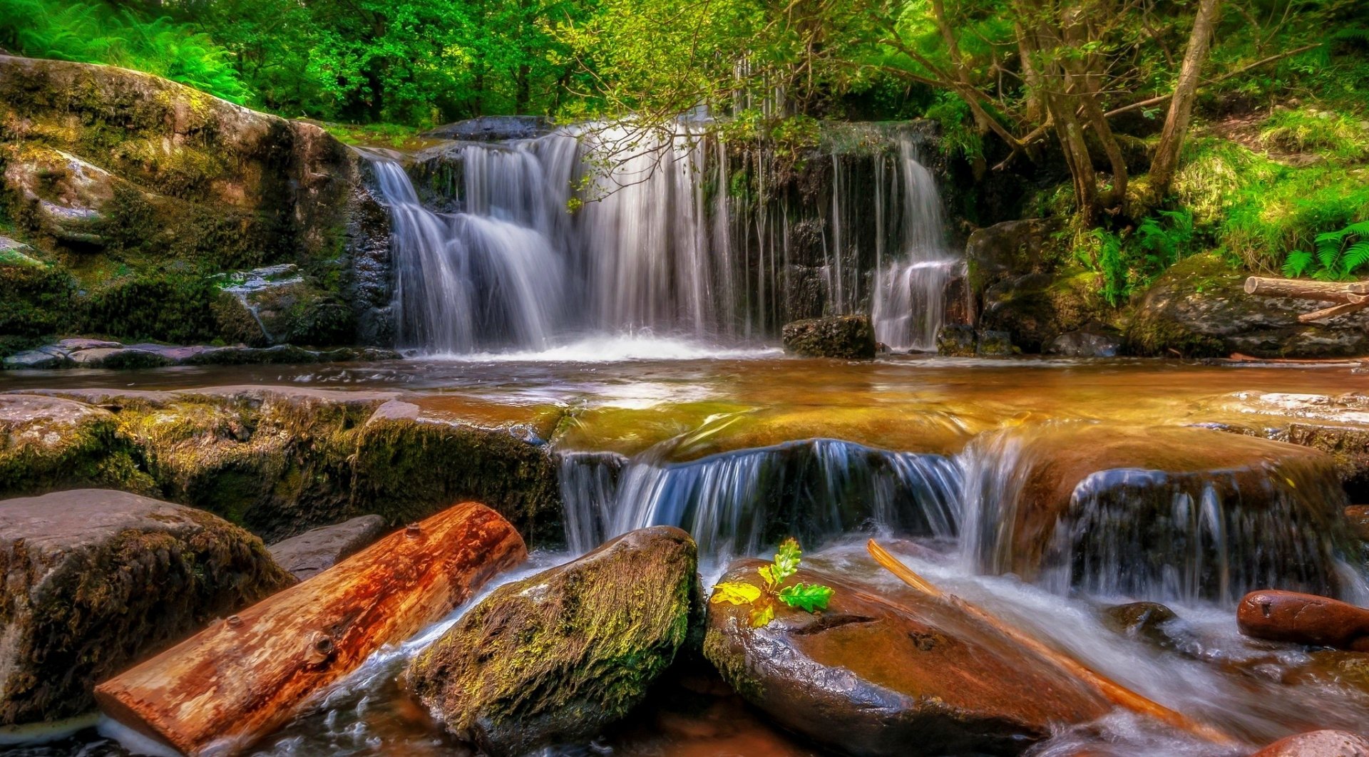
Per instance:
[[[0,496],[71,486],[153,491],[137,457],[108,411],[57,397],[0,394]]]

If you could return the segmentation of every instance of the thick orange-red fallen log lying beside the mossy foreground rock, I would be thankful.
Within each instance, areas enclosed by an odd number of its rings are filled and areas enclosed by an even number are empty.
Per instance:
[[[498,513],[455,505],[119,673],[94,697],[114,720],[185,754],[234,754],[524,557]]]

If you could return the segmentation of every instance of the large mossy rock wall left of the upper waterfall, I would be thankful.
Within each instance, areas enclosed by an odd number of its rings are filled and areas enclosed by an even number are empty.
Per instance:
[[[389,223],[364,174],[312,123],[126,68],[0,55],[0,233],[16,237],[0,246],[23,248],[0,255],[0,357],[75,334],[383,337],[372,311],[387,296],[366,271]],[[292,267],[266,308],[275,333],[233,292],[263,266]]]

